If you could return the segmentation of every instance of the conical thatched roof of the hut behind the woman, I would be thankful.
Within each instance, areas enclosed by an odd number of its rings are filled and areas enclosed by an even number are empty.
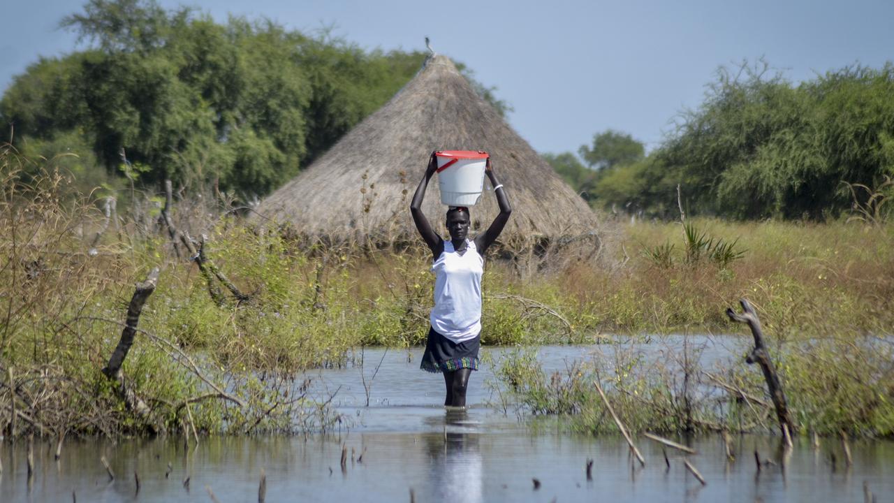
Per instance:
[[[443,55],[332,149],[262,201],[257,211],[302,234],[393,239],[415,234],[409,202],[432,150],[486,150],[512,205],[502,238],[557,237],[595,229],[595,213],[512,131]],[[485,191],[488,187],[485,181]],[[443,226],[437,175],[426,217]],[[493,192],[471,209],[473,234],[499,212]],[[476,227],[477,226],[477,227]]]

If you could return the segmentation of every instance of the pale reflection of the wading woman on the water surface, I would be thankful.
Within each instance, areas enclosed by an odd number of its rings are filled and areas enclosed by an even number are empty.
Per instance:
[[[443,433],[426,435],[428,491],[425,501],[483,501],[477,425],[465,408],[448,407]]]

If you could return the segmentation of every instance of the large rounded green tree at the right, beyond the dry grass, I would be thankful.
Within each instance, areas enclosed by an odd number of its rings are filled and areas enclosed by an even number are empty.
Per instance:
[[[704,102],[654,152],[643,195],[693,213],[822,220],[862,204],[894,166],[894,64],[827,72],[797,85],[758,61],[721,68]],[[620,184],[619,184],[620,186]],[[612,197],[616,197],[615,192]],[[660,202],[660,204],[659,204]]]

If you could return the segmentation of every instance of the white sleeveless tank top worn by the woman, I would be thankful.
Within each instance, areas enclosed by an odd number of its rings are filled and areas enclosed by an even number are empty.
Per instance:
[[[449,240],[434,260],[434,309],[429,319],[434,331],[453,342],[468,341],[481,333],[481,275],[485,260],[475,242],[460,255]]]

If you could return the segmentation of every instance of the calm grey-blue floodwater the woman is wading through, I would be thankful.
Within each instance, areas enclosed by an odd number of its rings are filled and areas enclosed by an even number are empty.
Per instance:
[[[634,346],[660,358],[683,344],[682,337],[661,341]],[[687,339],[693,342],[704,366],[741,358],[746,343]],[[483,351],[497,357],[506,350]],[[538,349],[548,371],[561,371],[592,351],[612,349]],[[800,440],[785,454],[777,438],[742,436],[734,438],[738,458],[728,463],[717,436],[696,437],[685,442],[698,451],[687,459],[704,476],[703,486],[687,472],[681,453],[668,449],[666,465],[662,446],[644,437],[636,440],[645,456],[642,467],[620,436],[561,434],[549,427],[532,432],[514,413],[488,405],[489,365],[473,373],[468,410],[445,410],[443,379],[419,371],[420,356],[421,349],[367,349],[363,369],[316,372],[318,389],[337,390],[333,404],[345,418],[341,431],[326,435],[202,438],[190,448],[182,438],[117,444],[69,439],[58,462],[54,445],[36,443],[30,479],[26,442],[4,443],[0,501],[257,501],[261,473],[266,501],[864,501],[866,489],[878,501],[894,495],[894,442],[852,443],[853,464],[847,466],[837,440],[824,439],[820,448]],[[758,471],[755,450],[774,464]],[[586,478],[588,459],[594,460],[592,480]]]

